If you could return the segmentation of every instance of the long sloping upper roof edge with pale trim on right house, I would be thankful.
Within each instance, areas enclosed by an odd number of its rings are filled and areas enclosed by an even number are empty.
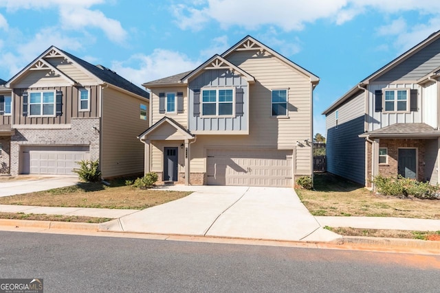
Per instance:
[[[401,62],[410,58],[410,56],[416,54],[418,51],[420,51],[421,49],[423,49],[424,47],[426,47],[427,45],[429,45],[430,43],[434,42],[435,40],[437,40],[439,38],[440,38],[440,30],[438,32],[434,32],[433,34],[428,36],[428,38],[426,38],[425,40],[422,40],[419,44],[415,45],[414,47],[412,47],[411,49],[406,51],[404,54],[401,54],[399,57],[395,58],[393,61],[389,62],[384,67],[375,71],[374,73],[369,75],[367,78],[364,78],[364,80],[362,80],[361,82],[356,84],[350,91],[348,91],[347,93],[342,95],[342,97],[337,99],[336,102],[331,104],[331,106],[329,106],[329,108],[327,108],[327,110],[322,112],[322,114],[327,115],[332,110],[334,110],[335,108],[337,108],[338,106],[343,104],[345,101],[347,101],[347,99],[349,99],[353,95],[353,91],[355,91],[356,89],[358,89],[360,87],[364,87],[366,84],[369,84],[371,82],[371,80],[374,80],[375,78],[386,73],[387,71],[390,71],[391,69],[393,69],[394,67],[399,65]],[[428,77],[426,77],[426,78],[428,78]],[[423,78],[421,78],[421,80],[423,80]],[[421,82],[421,81],[418,80],[417,82]]]

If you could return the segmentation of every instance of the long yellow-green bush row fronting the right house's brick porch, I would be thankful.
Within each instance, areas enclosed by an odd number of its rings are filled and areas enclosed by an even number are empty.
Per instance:
[[[414,196],[421,199],[436,198],[437,187],[429,183],[419,182],[414,179],[404,178],[401,175],[395,177],[375,176],[372,181],[377,187],[377,191],[384,196],[397,196],[406,198]]]

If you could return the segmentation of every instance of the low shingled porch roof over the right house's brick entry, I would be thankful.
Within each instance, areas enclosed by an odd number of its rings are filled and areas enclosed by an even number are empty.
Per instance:
[[[371,132],[365,132],[359,137],[370,138],[417,138],[417,137],[440,137],[440,131],[435,130],[428,124],[424,123],[397,123],[384,128],[379,128]]]

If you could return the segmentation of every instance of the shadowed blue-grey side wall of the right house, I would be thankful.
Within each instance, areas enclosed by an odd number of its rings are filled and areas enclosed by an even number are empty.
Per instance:
[[[336,124],[338,110],[338,124]],[[327,171],[365,184],[365,93],[362,91],[326,117]]]

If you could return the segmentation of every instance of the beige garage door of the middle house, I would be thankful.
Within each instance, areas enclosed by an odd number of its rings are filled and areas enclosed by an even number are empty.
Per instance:
[[[292,150],[208,150],[208,185],[292,187]]]

